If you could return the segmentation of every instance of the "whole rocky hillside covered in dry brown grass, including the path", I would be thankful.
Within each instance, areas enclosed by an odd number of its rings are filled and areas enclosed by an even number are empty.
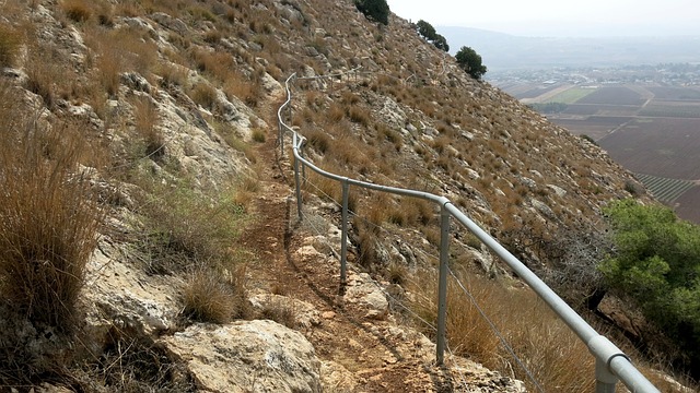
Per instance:
[[[585,345],[464,231],[451,269],[528,371],[456,282],[452,353],[435,367],[440,231],[427,202],[353,190],[339,295],[341,190],[307,174],[300,221],[291,153],[276,144],[296,73],[288,116],[314,163],[446,195],[619,335],[660,389],[682,391],[660,369],[678,348],[596,269],[612,250],[605,206],[651,203],[643,188],[596,145],[471,79],[415,25],[387,22],[346,0],[0,3],[0,383],[592,389]]]

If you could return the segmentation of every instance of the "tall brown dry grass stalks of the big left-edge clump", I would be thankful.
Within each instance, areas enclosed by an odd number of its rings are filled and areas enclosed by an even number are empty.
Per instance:
[[[0,142],[0,293],[30,322],[70,332],[104,213],[77,172],[78,130],[21,119]]]

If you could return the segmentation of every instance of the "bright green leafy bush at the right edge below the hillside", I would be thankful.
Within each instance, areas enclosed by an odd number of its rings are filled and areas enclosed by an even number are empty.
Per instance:
[[[616,245],[599,264],[610,288],[631,297],[644,315],[685,353],[674,359],[700,365],[700,227],[665,206],[634,200],[605,210]],[[692,372],[692,371],[691,371]]]

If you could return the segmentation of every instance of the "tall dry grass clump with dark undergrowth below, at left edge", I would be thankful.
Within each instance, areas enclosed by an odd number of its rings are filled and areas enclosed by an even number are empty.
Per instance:
[[[24,382],[63,367],[104,211],[79,170],[83,130],[19,115],[15,94],[0,82],[0,370]]]

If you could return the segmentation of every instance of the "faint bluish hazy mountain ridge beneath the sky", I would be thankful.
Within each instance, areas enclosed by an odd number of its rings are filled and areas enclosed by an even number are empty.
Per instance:
[[[490,71],[700,62],[700,37],[522,37],[480,28],[438,26],[453,51],[474,48]],[[488,74],[487,74],[488,76]]]

